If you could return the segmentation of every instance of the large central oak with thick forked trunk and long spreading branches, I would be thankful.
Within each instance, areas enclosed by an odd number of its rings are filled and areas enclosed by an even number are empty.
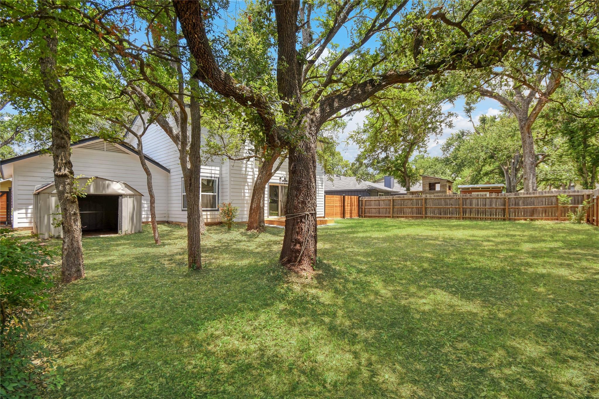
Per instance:
[[[578,6],[574,3],[559,5],[565,16]],[[443,71],[490,67],[522,46],[544,43],[552,49],[549,61],[565,55],[582,59],[596,50],[587,48],[588,32],[579,26],[585,20],[576,25],[567,17],[540,13],[538,3],[451,2],[447,10],[413,4],[410,18],[404,19],[406,5],[407,0],[399,4],[274,2],[279,98],[273,99],[223,70],[208,38],[210,14],[204,5],[174,1],[187,46],[198,62],[194,76],[256,110],[268,144],[289,148],[280,262],[291,270],[311,273],[316,261],[316,138],[329,118],[394,84],[424,80]],[[591,13],[590,8],[578,7],[577,13]],[[349,25],[349,46],[332,50],[329,44]],[[375,37],[380,46],[366,49]],[[318,64],[325,49],[326,62]]]

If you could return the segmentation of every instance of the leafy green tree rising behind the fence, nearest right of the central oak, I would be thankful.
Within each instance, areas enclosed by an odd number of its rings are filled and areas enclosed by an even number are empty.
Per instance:
[[[419,179],[410,160],[416,152],[426,152],[431,138],[444,128],[452,128],[454,113],[443,112],[443,93],[412,84],[386,90],[384,99],[374,104],[364,126],[350,138],[358,144],[358,159],[380,173],[395,177],[410,191]]]

